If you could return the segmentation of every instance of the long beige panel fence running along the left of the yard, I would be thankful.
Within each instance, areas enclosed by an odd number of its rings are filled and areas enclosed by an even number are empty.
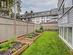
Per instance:
[[[43,26],[45,28],[45,26]],[[49,25],[46,25],[48,28]],[[13,19],[6,19],[0,17],[0,41],[16,38],[18,36],[31,33],[40,28],[40,25],[27,23],[23,21],[15,21]]]

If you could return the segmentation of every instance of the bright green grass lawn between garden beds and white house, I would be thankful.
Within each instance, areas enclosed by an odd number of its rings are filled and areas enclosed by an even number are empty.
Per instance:
[[[21,55],[70,55],[70,53],[57,32],[46,31]]]

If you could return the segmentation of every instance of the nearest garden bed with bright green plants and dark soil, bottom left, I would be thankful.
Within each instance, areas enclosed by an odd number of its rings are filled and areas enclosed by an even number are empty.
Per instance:
[[[0,44],[0,55],[11,55],[23,46],[17,41],[7,41]]]

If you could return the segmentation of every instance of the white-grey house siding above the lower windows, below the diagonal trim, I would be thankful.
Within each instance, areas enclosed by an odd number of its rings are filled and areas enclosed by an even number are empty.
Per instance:
[[[73,25],[73,8],[68,11],[62,18],[58,20],[58,25],[62,26],[69,26],[72,27]]]

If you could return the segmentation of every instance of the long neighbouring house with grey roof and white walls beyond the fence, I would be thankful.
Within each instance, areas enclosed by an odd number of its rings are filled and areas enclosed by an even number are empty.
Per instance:
[[[31,19],[31,22],[35,23],[35,24],[47,23],[47,22],[51,21],[52,19],[57,20],[57,18],[58,18],[57,11],[58,11],[58,9],[55,8],[55,9],[51,9],[49,11],[33,12],[32,14],[28,13],[27,16],[25,14],[22,14],[21,18],[22,19],[29,18],[29,19]]]

